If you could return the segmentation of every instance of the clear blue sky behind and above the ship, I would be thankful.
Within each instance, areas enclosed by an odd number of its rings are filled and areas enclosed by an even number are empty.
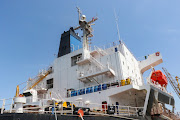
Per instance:
[[[160,51],[164,63],[155,69],[165,67],[180,77],[179,5],[179,0],[1,0],[0,98],[14,96],[17,84],[53,62],[61,33],[78,25],[76,6],[88,20],[99,18],[93,44],[118,40],[115,9],[121,39],[132,53],[142,59]],[[180,111],[180,100],[173,94]]]

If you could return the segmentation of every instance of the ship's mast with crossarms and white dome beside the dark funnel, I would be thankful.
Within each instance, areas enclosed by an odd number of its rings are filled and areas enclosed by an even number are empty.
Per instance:
[[[92,18],[91,21],[87,22],[86,21],[86,16],[85,15],[81,15],[81,11],[80,9],[77,7],[78,9],[78,15],[79,15],[79,26],[74,28],[74,30],[77,30],[79,28],[81,28],[81,30],[83,31],[83,49],[84,50],[89,50],[89,40],[88,38],[89,37],[93,37],[93,34],[92,34],[92,25],[94,24],[91,24],[93,23],[94,21],[97,20],[97,17],[96,18]]]

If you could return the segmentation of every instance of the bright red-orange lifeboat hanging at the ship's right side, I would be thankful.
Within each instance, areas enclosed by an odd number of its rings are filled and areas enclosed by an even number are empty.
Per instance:
[[[167,86],[168,81],[166,76],[161,72],[161,70],[156,70],[151,75],[152,82],[158,82],[161,86]]]

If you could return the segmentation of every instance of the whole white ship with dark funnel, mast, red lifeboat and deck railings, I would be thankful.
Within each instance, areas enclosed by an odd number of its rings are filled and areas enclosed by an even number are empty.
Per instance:
[[[163,62],[161,53],[138,61],[120,39],[92,46],[92,26],[98,18],[87,21],[79,8],[78,13],[79,26],[61,34],[54,62],[29,78],[22,92],[17,85],[16,95],[2,100],[0,120],[180,119],[167,91],[170,74],[165,68],[166,75],[155,70]],[[179,94],[180,88],[174,89]],[[12,101],[10,109],[7,100]]]

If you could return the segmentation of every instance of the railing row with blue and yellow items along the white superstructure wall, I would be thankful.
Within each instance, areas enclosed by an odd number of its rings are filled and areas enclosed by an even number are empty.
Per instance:
[[[125,80],[125,83],[122,83],[121,80],[115,80],[115,81],[104,82],[104,83],[101,83],[101,84],[88,86],[88,87],[84,87],[84,88],[80,88],[80,89],[76,89],[76,90],[69,89],[67,91],[67,96],[66,97],[74,97],[74,96],[79,96],[79,95],[104,91],[104,90],[115,88],[115,87],[121,87],[121,86],[125,86],[125,85],[130,85],[130,84],[132,84],[131,81],[132,80],[130,80],[130,81]]]

